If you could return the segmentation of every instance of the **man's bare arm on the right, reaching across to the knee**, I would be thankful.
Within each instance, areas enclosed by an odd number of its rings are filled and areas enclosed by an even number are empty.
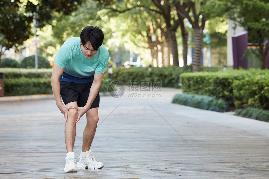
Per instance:
[[[98,91],[99,91],[99,88],[100,88],[100,85],[102,83],[102,79],[103,79],[103,76],[104,76],[104,73],[94,73],[94,81],[93,81],[93,84],[91,86],[91,89],[90,89],[90,94],[89,94],[89,98],[87,100],[87,103],[84,107],[78,107],[78,119],[76,121],[79,122],[79,119],[81,118],[81,116],[83,116],[83,114],[85,114],[91,107],[94,99],[96,98],[96,95],[98,94]]]

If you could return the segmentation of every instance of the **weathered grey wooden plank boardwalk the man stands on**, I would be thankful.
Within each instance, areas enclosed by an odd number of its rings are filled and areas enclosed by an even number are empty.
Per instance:
[[[178,92],[101,97],[91,150],[104,168],[77,173],[63,172],[65,120],[54,99],[1,102],[0,178],[269,178],[268,136],[172,113],[180,108],[169,104]],[[77,124],[77,158],[84,126],[85,116]]]

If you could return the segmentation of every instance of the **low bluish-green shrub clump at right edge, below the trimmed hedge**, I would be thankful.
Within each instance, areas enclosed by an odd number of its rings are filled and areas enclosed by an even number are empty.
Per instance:
[[[269,122],[269,111],[257,108],[236,109],[235,115]]]

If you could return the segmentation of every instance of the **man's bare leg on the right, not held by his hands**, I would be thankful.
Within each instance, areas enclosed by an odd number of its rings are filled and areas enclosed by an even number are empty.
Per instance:
[[[70,110],[70,109],[69,109]],[[82,152],[90,150],[94,134],[96,131],[98,117],[98,108],[89,109],[86,112],[87,124],[83,132]]]

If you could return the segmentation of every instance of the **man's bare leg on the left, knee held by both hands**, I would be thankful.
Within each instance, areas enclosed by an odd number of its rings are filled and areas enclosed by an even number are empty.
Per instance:
[[[77,102],[71,102],[66,104],[68,106],[78,106]],[[77,109],[69,109],[68,111],[68,123],[65,123],[64,136],[66,151],[73,152],[74,143],[76,138],[76,120],[78,119]]]

